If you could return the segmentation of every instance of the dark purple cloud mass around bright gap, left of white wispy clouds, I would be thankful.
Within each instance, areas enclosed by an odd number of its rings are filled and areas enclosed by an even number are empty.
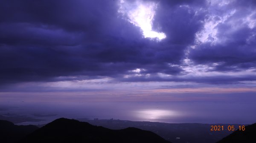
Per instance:
[[[155,24],[167,34],[163,42],[144,39],[140,28],[120,17],[116,1],[2,0],[1,82],[122,77],[136,68],[177,74],[180,68],[166,64],[180,63],[201,25],[187,9],[158,9]]]

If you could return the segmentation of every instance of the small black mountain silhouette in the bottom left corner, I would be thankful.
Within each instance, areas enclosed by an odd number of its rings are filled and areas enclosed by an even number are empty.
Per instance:
[[[17,126],[12,122],[0,120],[0,142],[15,143],[36,129],[38,129],[37,126]]]

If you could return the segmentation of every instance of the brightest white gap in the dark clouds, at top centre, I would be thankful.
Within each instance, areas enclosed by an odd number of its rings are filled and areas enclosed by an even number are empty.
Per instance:
[[[157,8],[156,3],[143,2],[141,0],[136,0],[133,3],[125,0],[120,0],[119,2],[118,12],[127,18],[129,22],[140,27],[145,38],[156,38],[159,41],[166,38],[166,34],[163,32],[152,30],[152,21]]]

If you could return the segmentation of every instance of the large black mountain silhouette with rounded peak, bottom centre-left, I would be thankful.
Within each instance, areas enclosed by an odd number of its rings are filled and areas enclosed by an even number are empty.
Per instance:
[[[59,118],[36,130],[20,143],[171,143],[150,131],[120,130]]]

